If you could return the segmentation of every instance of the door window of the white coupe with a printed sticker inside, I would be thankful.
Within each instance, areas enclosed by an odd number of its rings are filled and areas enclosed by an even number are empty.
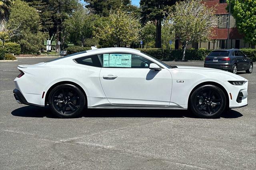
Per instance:
[[[131,53],[100,54],[103,67],[148,68],[152,61]]]

